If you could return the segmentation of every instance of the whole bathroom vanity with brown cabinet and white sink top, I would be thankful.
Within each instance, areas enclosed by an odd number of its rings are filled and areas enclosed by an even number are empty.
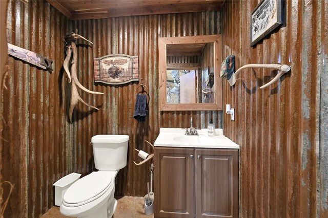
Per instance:
[[[154,146],[154,217],[238,217],[239,145],[215,129],[161,128]]]

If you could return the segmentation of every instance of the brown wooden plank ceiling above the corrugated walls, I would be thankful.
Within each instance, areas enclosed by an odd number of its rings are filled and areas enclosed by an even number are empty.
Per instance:
[[[225,0],[47,0],[71,20],[219,11]]]

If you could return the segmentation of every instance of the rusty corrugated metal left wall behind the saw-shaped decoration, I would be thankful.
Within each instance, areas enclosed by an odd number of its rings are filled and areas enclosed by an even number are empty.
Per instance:
[[[8,42],[55,60],[54,71],[9,57],[1,99],[1,179],[13,183],[5,217],[38,217],[53,206],[52,184],[67,175],[63,36],[69,20],[43,1],[9,1]],[[2,187],[6,189],[6,187]],[[3,195],[2,197],[6,197]]]

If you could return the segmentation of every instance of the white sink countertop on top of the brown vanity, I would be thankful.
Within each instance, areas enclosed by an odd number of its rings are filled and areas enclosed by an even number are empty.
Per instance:
[[[185,132],[182,128],[160,128],[154,146],[239,149],[239,145],[223,136],[219,128],[215,129],[215,136],[209,136],[207,128],[197,129],[198,136],[186,136]]]

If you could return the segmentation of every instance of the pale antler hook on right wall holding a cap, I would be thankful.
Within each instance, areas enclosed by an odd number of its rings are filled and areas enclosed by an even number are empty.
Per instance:
[[[241,68],[239,68],[236,72],[235,72],[235,77],[237,77],[237,75],[240,73],[240,71],[242,71],[243,69],[246,68],[273,68],[279,71],[279,73],[275,76],[275,78],[273,78],[270,82],[268,82],[267,84],[264,84],[260,87],[260,89],[263,89],[265,87],[268,87],[269,85],[273,84],[274,82],[276,82],[283,74],[288,73],[291,70],[291,67],[288,66],[287,64],[264,64],[264,63],[256,63],[256,64],[246,64],[244,66],[242,66]]]

